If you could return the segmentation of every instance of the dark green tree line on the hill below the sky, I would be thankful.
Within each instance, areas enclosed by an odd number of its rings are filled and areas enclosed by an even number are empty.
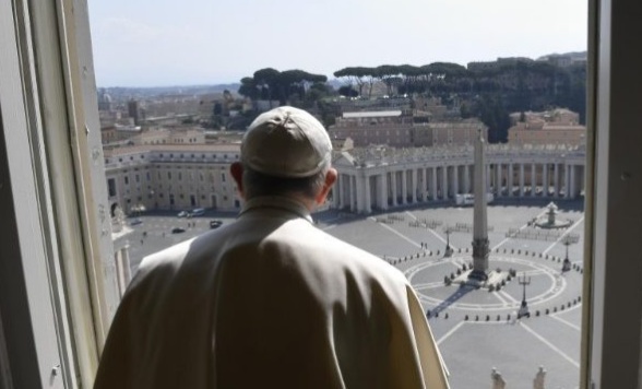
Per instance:
[[[462,117],[478,117],[489,127],[489,142],[507,140],[509,113],[566,107],[579,113],[581,122],[586,114],[585,63],[558,67],[514,60],[473,69],[449,62],[382,64],[347,67],[333,75],[344,83],[337,91],[329,86],[325,75],[266,68],[243,78],[238,93],[252,99],[329,111],[326,97],[370,98],[380,84],[389,96],[430,96],[441,98],[447,106],[457,104]]]

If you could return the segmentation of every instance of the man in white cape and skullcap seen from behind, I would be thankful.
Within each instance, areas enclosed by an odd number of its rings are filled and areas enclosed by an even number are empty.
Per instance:
[[[312,223],[331,151],[300,109],[252,122],[230,167],[238,220],[142,261],[95,389],[448,388],[403,273]]]

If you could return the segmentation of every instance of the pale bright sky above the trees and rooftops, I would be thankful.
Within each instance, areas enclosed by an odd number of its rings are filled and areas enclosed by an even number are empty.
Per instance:
[[[299,69],[536,59],[587,47],[582,0],[88,0],[96,83],[237,83]]]

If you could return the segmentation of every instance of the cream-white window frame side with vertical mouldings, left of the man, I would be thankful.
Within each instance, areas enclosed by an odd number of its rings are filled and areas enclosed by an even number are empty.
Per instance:
[[[1,1],[0,31],[2,382],[91,388],[118,285],[86,2]]]

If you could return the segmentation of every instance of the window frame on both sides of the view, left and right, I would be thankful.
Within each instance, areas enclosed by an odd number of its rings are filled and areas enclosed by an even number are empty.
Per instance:
[[[642,36],[635,17],[641,8],[588,1],[592,190],[585,201],[581,388],[642,382],[642,291],[630,288],[639,285],[642,261],[629,260],[639,251],[634,226],[642,221],[642,210],[630,205],[642,192],[642,132],[634,131],[642,117],[632,104],[642,90],[642,47],[631,39]],[[8,162],[0,169],[0,184],[8,182],[0,188],[8,215],[0,241],[12,250],[2,266],[13,266],[0,272],[0,382],[56,387],[60,380],[51,385],[50,378],[60,363],[66,386],[88,388],[118,292],[106,181],[92,179],[104,175],[104,166],[87,4],[3,1],[0,22],[0,157]],[[7,291],[14,302],[1,298]],[[633,304],[621,304],[623,298]],[[17,329],[16,318],[28,326]],[[23,350],[15,341],[24,341]]]

